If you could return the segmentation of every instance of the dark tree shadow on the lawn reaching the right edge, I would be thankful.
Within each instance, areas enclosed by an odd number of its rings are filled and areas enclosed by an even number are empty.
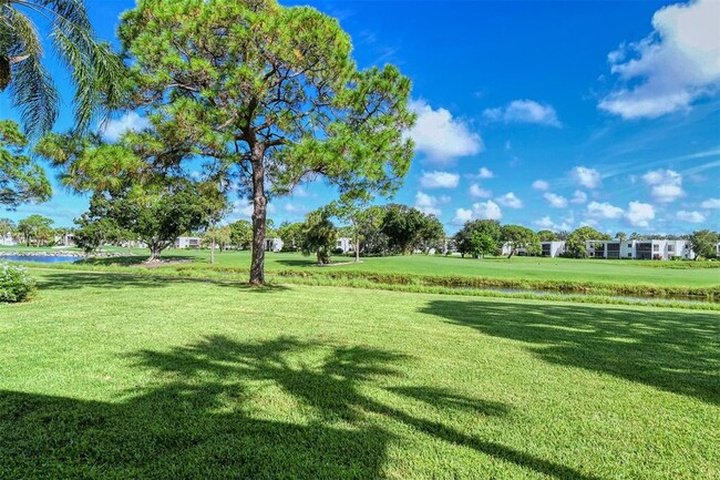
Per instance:
[[[422,312],[531,344],[553,364],[720,404],[717,314],[484,300],[433,300]]]

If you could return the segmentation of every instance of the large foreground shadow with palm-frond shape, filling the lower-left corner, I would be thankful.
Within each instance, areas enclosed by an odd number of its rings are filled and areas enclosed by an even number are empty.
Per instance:
[[[0,391],[0,477],[373,479],[383,477],[387,449],[399,440],[388,428],[393,421],[547,476],[594,479],[363,394],[409,360],[392,351],[213,336],[130,360],[153,371],[156,385],[120,404]],[[269,407],[258,409],[264,391],[280,395],[264,397]],[[444,389],[392,391],[431,408],[508,413]],[[281,418],[304,418],[274,419],[282,409]]]

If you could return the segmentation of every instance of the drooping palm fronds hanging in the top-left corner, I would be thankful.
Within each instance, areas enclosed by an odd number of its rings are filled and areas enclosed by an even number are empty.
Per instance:
[[[41,60],[42,41],[29,17],[50,22],[49,38],[75,84],[75,127],[86,130],[105,106],[119,101],[123,65],[110,44],[99,42],[84,0],[0,0],[0,92],[9,89],[25,130],[49,131],[59,94]]]

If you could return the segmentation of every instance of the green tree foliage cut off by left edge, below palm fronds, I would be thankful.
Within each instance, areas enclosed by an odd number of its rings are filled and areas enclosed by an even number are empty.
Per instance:
[[[17,123],[0,121],[0,205],[16,207],[30,201],[44,202],[52,194],[45,172],[23,154],[27,146],[28,139]]]

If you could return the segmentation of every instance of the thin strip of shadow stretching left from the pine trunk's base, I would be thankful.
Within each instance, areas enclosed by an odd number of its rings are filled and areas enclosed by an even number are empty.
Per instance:
[[[287,290],[288,287],[276,284],[266,284],[260,287],[249,285],[245,282],[223,280],[213,278],[185,278],[171,277],[158,274],[133,275],[124,273],[95,273],[95,272],[72,272],[62,270],[58,273],[45,273],[38,282],[42,290],[70,290],[76,288],[163,288],[176,284],[213,284],[220,287],[233,288],[238,292],[251,294],[267,294]]]

